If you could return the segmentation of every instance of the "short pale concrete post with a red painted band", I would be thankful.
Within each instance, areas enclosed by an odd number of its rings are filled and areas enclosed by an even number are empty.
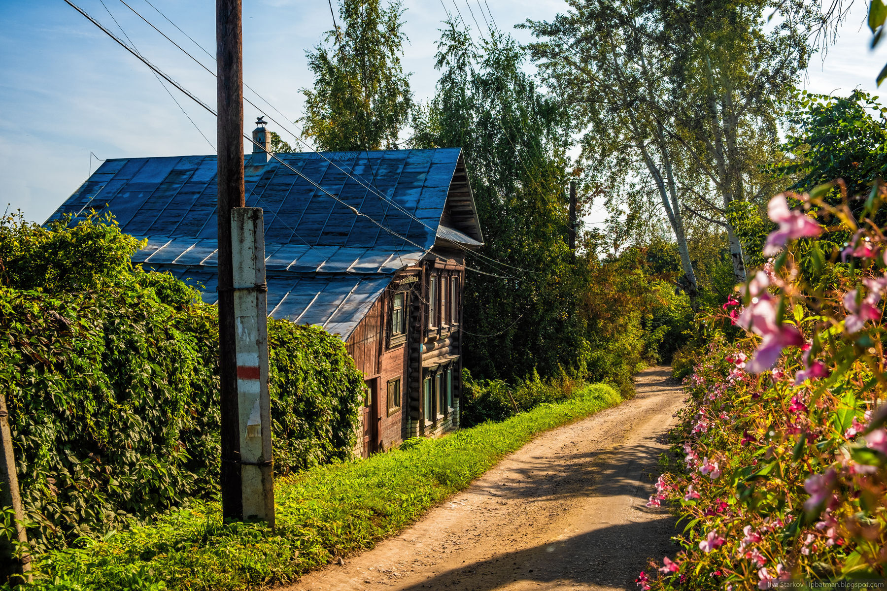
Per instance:
[[[232,210],[234,325],[243,517],[274,527],[271,398],[268,395],[268,287],[261,207]]]

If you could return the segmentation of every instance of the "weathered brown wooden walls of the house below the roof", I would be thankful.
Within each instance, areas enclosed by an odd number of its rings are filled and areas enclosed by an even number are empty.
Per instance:
[[[346,343],[366,382],[356,449],[364,457],[459,426],[465,267],[449,254],[399,271]]]

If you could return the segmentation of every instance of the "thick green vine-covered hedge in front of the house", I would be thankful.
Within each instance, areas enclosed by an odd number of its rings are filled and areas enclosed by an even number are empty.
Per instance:
[[[216,307],[132,268],[111,218],[0,224],[0,389],[38,551],[216,494]],[[349,457],[363,379],[339,338],[269,321],[275,468]]]

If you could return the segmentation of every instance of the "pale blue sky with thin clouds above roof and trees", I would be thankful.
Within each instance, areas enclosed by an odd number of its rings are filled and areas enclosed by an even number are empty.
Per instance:
[[[208,105],[215,106],[215,80],[210,74],[184,57],[120,0],[104,2],[138,51]],[[146,0],[127,2],[213,67],[206,54]],[[150,2],[215,53],[214,0]],[[521,41],[528,41],[528,35],[514,31],[515,23],[528,18],[551,19],[565,8],[562,0],[443,0],[451,12],[455,12],[453,2],[458,3],[462,16],[475,30],[467,6],[482,26],[482,10],[489,6],[498,27],[512,31]],[[120,35],[101,0],[75,0],[75,4]],[[333,4],[336,6],[336,2]],[[864,4],[856,0],[851,18],[825,60],[814,58],[804,82],[806,88],[826,93],[847,93],[857,86],[875,90],[875,74],[887,61],[887,51],[882,48],[873,54],[867,49],[870,37],[867,29],[860,30]],[[404,67],[413,73],[415,97],[426,99],[434,92],[434,43],[444,9],[441,0],[404,0],[404,7],[404,31],[410,38]],[[288,121],[294,121],[302,115],[300,89],[310,87],[312,82],[305,50],[320,42],[324,31],[332,27],[329,4],[326,0],[246,0],[243,16],[246,82],[285,113]],[[215,119],[176,89],[170,91],[215,144]],[[258,114],[246,106],[247,130]],[[277,113],[269,114],[277,117]],[[281,135],[293,144],[292,137]],[[62,0],[3,0],[0,206],[8,203],[13,210],[21,209],[27,219],[43,222],[86,179],[90,152],[99,158],[126,158],[206,154],[213,150],[147,67]],[[92,170],[97,164],[93,159]],[[588,222],[600,222],[604,217],[604,212],[595,210]]]

